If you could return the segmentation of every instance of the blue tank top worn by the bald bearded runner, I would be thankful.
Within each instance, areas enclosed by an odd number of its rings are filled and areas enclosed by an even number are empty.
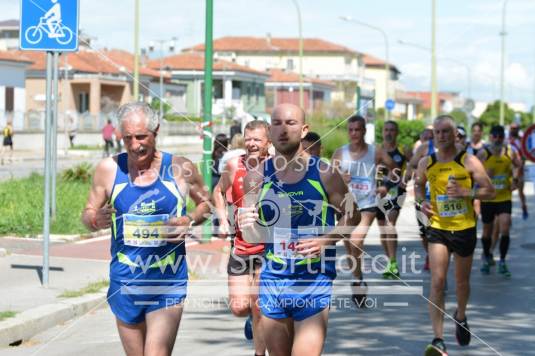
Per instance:
[[[282,183],[277,179],[273,159],[264,165],[264,182],[260,194],[260,219],[269,231],[265,243],[264,271],[284,277],[316,272],[336,277],[336,249],[329,246],[317,258],[303,258],[295,248],[299,239],[321,236],[334,226],[334,208],[329,205],[321,183],[317,157],[310,157],[303,179]]]

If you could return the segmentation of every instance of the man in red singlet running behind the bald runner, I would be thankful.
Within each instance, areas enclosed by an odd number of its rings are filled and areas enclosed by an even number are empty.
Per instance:
[[[268,156],[268,132],[269,126],[264,121],[251,121],[245,126],[246,154],[226,162],[221,179],[214,188],[214,204],[219,220],[218,236],[233,236],[227,266],[230,310],[236,316],[248,316],[245,336],[250,340],[254,334],[256,355],[264,355],[266,351],[265,342],[258,329],[260,310],[256,303],[258,273],[262,265],[264,245],[245,241],[234,221],[238,220],[237,211],[243,206],[243,177],[247,174],[247,169],[256,167]],[[228,190],[232,201],[227,200]]]

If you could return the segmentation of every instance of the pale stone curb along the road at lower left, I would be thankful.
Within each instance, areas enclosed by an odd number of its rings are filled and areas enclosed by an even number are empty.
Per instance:
[[[29,340],[40,332],[105,305],[106,293],[101,290],[98,293],[64,299],[23,311],[0,322],[0,347]]]

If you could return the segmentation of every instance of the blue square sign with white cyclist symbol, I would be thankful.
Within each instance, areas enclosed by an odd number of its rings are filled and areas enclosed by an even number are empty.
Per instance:
[[[78,50],[79,0],[21,0],[20,49]]]

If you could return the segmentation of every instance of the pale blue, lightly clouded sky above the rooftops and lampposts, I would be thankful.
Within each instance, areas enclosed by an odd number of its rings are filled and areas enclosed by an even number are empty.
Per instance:
[[[50,0],[34,0],[43,7]],[[67,1],[67,0],[61,0]],[[384,58],[382,35],[343,22],[340,16],[382,28],[390,62],[401,70],[405,90],[429,90],[431,0],[296,0],[303,36],[322,38]],[[499,98],[502,0],[436,0],[437,70],[441,91],[468,92],[477,101]],[[204,41],[204,0],[140,0],[140,43],[177,37],[177,48]],[[214,0],[214,38],[297,37],[292,0]],[[19,17],[19,1],[0,0],[0,19]],[[535,100],[535,0],[509,0],[506,12],[505,98],[528,109]],[[80,0],[80,28],[95,37],[95,48],[133,51],[134,0]],[[467,68],[468,67],[468,68]]]

